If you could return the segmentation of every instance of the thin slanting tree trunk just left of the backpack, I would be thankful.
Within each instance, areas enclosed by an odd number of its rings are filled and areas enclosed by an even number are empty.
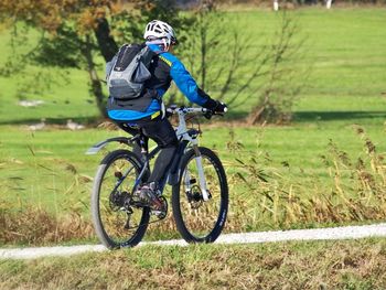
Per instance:
[[[99,109],[100,115],[104,117],[107,117],[106,106],[104,101],[107,97],[103,93],[101,82],[98,77],[98,74],[94,64],[92,40],[89,35],[86,35],[86,42],[82,50],[82,53],[87,61],[87,72],[89,74],[89,78],[92,82],[90,88],[92,88],[93,95],[95,96],[97,107]]]

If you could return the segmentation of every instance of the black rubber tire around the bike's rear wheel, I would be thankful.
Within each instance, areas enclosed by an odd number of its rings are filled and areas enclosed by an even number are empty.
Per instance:
[[[109,169],[111,169],[115,165],[116,161],[127,162],[129,165],[131,165],[135,171],[135,176],[132,176],[133,179],[138,176],[140,169],[142,167],[141,162],[132,152],[128,150],[116,150],[108,153],[101,160],[97,169],[94,184],[93,184],[93,191],[92,191],[92,218],[93,218],[93,224],[94,224],[94,228],[97,237],[99,238],[101,244],[109,249],[133,247],[137,244],[139,244],[147,230],[149,219],[150,219],[150,210],[148,207],[138,208],[138,212],[136,212],[136,214],[138,213],[139,226],[136,229],[133,229],[132,234],[127,234],[128,236],[125,236],[125,234],[122,234],[124,236],[121,240],[116,240],[109,233],[111,229],[107,225],[107,222],[103,221],[104,217],[101,215],[101,213],[105,214],[105,212],[106,213],[108,212],[108,207],[106,205],[107,201],[101,201],[101,194],[104,194],[101,193],[101,186],[104,185],[104,182],[106,183],[106,181],[109,179],[109,176],[107,176],[106,173],[108,172]],[[110,200],[109,200],[109,203],[110,203]],[[106,218],[109,218],[109,217],[106,217]],[[122,232],[125,230],[122,229]]]

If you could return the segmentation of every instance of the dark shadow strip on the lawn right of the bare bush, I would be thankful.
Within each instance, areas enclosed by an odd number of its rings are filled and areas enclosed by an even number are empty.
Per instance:
[[[386,111],[297,111],[293,121],[334,121],[334,120],[361,120],[386,119]]]

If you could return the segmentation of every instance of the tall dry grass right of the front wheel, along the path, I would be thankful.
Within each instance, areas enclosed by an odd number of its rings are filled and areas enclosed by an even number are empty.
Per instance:
[[[299,178],[270,169],[262,151],[245,152],[230,138],[228,149],[240,157],[232,164],[233,196],[228,228],[246,230],[261,225],[289,228],[300,224],[340,224],[384,221],[386,218],[386,162],[361,127],[355,130],[364,143],[364,153],[353,161],[331,140],[328,154],[321,157],[330,181],[318,176]],[[232,136],[230,136],[232,137]],[[282,164],[289,167],[288,164]],[[297,182],[298,180],[298,182]]]

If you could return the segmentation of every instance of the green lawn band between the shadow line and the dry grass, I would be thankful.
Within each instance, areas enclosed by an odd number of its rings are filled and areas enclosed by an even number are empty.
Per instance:
[[[363,141],[355,133],[352,123],[301,123],[286,127],[233,127],[234,140],[243,143],[242,152],[269,154],[266,165],[286,172],[281,163],[288,162],[293,172],[304,170],[307,174],[298,175],[298,181],[304,176],[321,175],[326,178],[328,171],[322,165],[321,155],[329,152],[329,140],[332,139],[341,150],[346,151],[355,161],[364,153]],[[227,168],[232,171],[238,152],[229,152],[227,142],[230,140],[228,128],[218,123],[215,128],[204,128],[201,143],[217,150]],[[379,152],[386,151],[383,142],[385,129],[382,125],[364,127]],[[68,170],[72,164],[77,173],[93,176],[103,154],[86,155],[85,151],[94,143],[122,135],[120,131],[87,129],[69,131],[46,129],[31,132],[22,126],[1,127],[0,170],[1,181],[7,184],[0,189],[4,198],[21,198],[24,201],[51,204],[53,193],[55,198],[66,198],[66,191],[76,175]],[[257,144],[259,147],[257,147]],[[115,146],[111,144],[110,149]],[[247,158],[247,155],[245,155]],[[66,169],[67,168],[67,169]],[[85,189],[82,189],[82,191]],[[88,193],[85,193],[88,197]],[[51,208],[52,204],[50,205]]]

